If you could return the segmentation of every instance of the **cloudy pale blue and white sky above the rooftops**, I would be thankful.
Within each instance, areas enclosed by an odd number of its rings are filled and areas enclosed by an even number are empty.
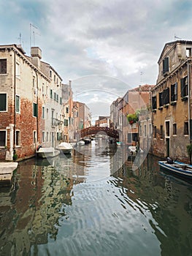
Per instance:
[[[74,100],[104,116],[128,89],[155,84],[166,42],[192,39],[192,1],[1,0],[0,21],[1,45],[39,46]]]

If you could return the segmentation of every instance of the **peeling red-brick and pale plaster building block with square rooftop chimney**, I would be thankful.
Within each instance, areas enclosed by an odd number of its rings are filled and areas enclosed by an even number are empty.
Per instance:
[[[0,159],[25,159],[39,144],[61,140],[61,77],[43,61],[42,51],[26,56],[20,45],[0,46]]]

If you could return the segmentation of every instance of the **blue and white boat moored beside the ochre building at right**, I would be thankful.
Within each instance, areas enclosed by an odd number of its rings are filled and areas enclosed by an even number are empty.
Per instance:
[[[158,165],[169,173],[176,174],[185,178],[192,178],[192,165],[178,161],[158,161]]]

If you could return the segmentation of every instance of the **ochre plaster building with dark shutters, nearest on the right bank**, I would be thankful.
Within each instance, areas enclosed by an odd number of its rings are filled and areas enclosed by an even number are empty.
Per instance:
[[[153,154],[188,162],[191,143],[192,41],[166,43],[152,90]]]

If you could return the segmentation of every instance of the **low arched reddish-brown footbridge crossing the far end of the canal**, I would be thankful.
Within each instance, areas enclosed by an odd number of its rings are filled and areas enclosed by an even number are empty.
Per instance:
[[[108,127],[88,127],[80,130],[80,137],[86,137],[88,135],[96,135],[98,132],[105,132],[108,136],[118,139],[119,134],[116,129],[110,129]]]

